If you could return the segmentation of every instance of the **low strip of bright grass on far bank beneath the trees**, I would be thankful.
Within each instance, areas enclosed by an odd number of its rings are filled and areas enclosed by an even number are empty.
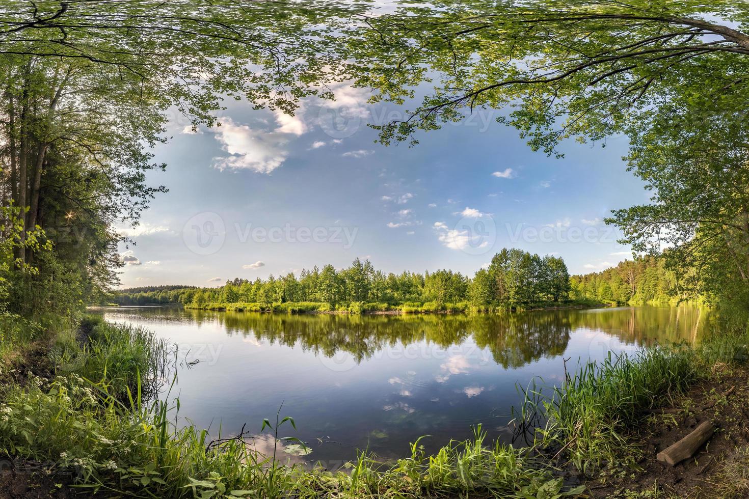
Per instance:
[[[535,301],[507,307],[477,307],[468,301],[442,303],[438,301],[404,301],[402,303],[384,303],[352,301],[348,304],[333,306],[330,303],[315,301],[286,301],[284,303],[206,303],[202,305],[186,304],[185,308],[194,310],[219,310],[236,312],[276,312],[276,313],[503,313],[521,310],[548,310],[554,308],[598,307],[599,301],[586,299],[565,301]]]

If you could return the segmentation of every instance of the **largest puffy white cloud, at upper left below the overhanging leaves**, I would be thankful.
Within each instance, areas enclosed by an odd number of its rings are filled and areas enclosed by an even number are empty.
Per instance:
[[[214,158],[213,166],[219,170],[229,168],[270,174],[288,156],[288,151],[283,148],[287,139],[282,133],[252,129],[247,125],[238,125],[231,119],[212,130],[222,149],[230,155]]]

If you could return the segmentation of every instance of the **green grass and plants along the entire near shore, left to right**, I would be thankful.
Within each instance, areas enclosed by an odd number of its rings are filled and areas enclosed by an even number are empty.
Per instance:
[[[39,333],[26,350],[40,342],[49,343],[49,353],[35,365],[28,365],[23,346],[4,357],[0,447],[10,458],[73,472],[75,486],[91,492],[158,498],[552,498],[583,492],[565,485],[563,465],[587,476],[634,465],[640,449],[628,429],[666,394],[673,397],[709,379],[716,363],[744,361],[749,331],[746,322],[726,322],[720,334],[694,348],[658,346],[612,357],[568,373],[560,386],[527,391],[518,423],[544,422],[532,431],[528,447],[489,442],[479,426],[473,439],[453,441],[432,456],[417,441],[398,462],[360,453],[342,471],[277,458],[288,444],[299,453],[306,449],[303,442],[279,438],[279,430],[285,434],[294,426],[282,412],[269,414],[263,424],[279,451],[271,456],[255,452],[241,435],[210,441],[204,429],[175,426],[178,403],[152,397],[156,381],[169,372],[171,349],[148,331],[85,319],[76,334],[64,328],[52,336]]]

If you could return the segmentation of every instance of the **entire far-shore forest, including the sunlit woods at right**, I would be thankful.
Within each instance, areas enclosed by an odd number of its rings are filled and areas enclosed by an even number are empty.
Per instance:
[[[560,303],[667,304],[693,300],[676,272],[662,257],[635,257],[616,267],[586,275],[568,274],[561,257],[539,257],[518,249],[503,249],[473,278],[451,270],[401,272],[375,269],[369,260],[356,259],[346,269],[315,266],[300,275],[289,273],[255,281],[236,278],[221,287],[151,286],[121,290],[112,297],[120,305],[182,304],[225,309],[231,304],[328,304],[343,310],[351,304],[386,310],[402,305],[439,309],[534,307]],[[369,306],[368,306],[369,305]],[[234,307],[237,308],[237,307]],[[240,309],[252,310],[244,306]]]

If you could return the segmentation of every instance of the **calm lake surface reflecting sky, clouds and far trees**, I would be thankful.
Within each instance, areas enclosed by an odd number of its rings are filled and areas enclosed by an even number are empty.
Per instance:
[[[422,435],[428,450],[471,435],[512,439],[517,385],[563,379],[564,361],[600,360],[643,345],[697,341],[708,313],[692,307],[551,310],[503,316],[332,316],[106,309],[107,320],[150,328],[178,343],[180,416],[212,435],[264,417],[292,416],[304,461],[335,468],[369,447],[404,456]],[[187,362],[198,360],[195,365]],[[166,395],[165,395],[166,397]],[[287,435],[288,434],[288,435]],[[262,449],[272,439],[259,435]]]

